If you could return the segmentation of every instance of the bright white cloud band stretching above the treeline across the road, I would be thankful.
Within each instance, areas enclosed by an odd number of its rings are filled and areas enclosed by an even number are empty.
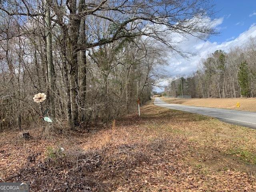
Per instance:
[[[168,76],[176,75],[189,75],[197,70],[198,63],[200,60],[207,58],[216,50],[224,50],[228,52],[231,47],[244,45],[250,37],[256,36],[256,25],[253,24],[248,30],[241,33],[237,38],[231,37],[225,42],[217,43],[200,40],[195,37],[189,37],[183,42],[179,43],[178,46],[184,52],[190,52],[196,54],[196,56],[190,56],[189,58],[183,58],[180,55],[171,57],[168,66],[165,70]]]

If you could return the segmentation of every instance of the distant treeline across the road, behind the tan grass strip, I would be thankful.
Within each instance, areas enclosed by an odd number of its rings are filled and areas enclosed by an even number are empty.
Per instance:
[[[177,77],[165,88],[167,96],[238,98],[256,96],[256,38],[228,53],[216,50],[188,77]]]

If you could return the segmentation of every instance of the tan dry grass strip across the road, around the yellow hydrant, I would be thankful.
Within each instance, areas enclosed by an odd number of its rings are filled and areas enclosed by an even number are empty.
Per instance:
[[[168,103],[176,103],[176,104],[182,104],[182,105],[213,107],[213,108],[226,108],[226,109],[233,109],[233,110],[256,112],[256,98],[180,99],[180,98],[161,97],[161,99]],[[239,108],[236,106],[237,102],[240,103]]]

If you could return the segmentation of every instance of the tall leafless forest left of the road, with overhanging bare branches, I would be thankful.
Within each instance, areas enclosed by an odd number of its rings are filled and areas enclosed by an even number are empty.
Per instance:
[[[1,128],[45,116],[86,128],[134,110],[166,54],[187,56],[170,34],[207,38],[213,14],[210,0],[0,1]]]

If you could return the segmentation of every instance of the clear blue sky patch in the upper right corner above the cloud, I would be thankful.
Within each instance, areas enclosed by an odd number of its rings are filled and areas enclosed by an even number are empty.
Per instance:
[[[211,42],[224,42],[236,38],[256,22],[256,0],[214,0],[216,18],[224,18],[217,30],[218,36],[212,36]],[[253,15],[255,13],[255,15]]]

